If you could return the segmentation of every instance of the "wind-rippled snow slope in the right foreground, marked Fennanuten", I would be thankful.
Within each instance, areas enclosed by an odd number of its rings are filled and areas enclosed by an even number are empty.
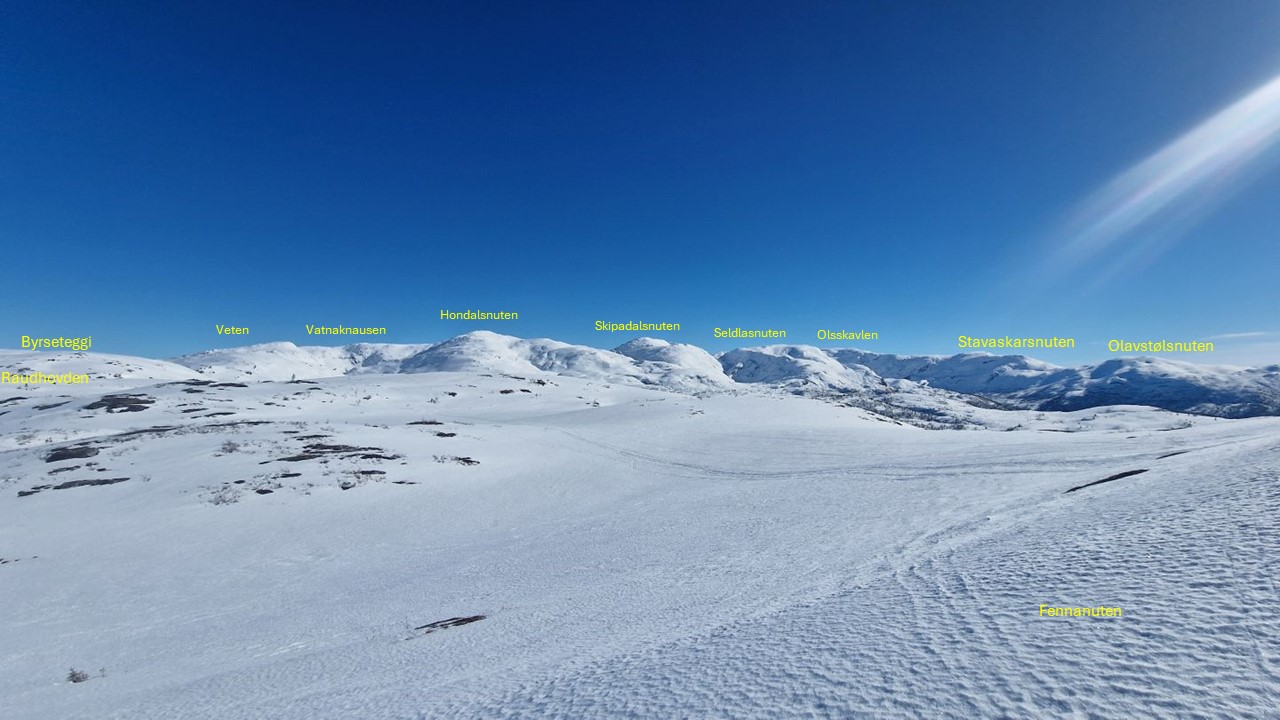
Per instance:
[[[1242,717],[1280,712],[1280,465],[1115,491],[856,588],[530,684],[484,716]],[[1155,502],[1152,502],[1155,500]],[[1027,532],[1025,523],[1042,523]],[[954,534],[954,533],[947,533]],[[959,542],[960,544],[955,544]],[[1042,619],[1038,603],[1121,606]]]

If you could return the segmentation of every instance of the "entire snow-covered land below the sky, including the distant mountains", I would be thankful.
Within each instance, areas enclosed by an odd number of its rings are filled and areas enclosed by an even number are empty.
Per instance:
[[[0,370],[91,377],[0,391],[4,719],[1280,716],[1280,366],[475,332]]]

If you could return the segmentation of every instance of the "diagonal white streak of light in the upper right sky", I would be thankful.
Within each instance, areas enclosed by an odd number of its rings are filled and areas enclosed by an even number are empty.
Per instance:
[[[1280,76],[1202,122],[1089,196],[1056,236],[1053,274],[1094,277],[1149,260],[1280,140]]]

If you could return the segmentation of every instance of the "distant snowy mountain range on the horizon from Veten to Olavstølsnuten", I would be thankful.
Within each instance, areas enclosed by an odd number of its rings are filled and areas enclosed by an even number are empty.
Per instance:
[[[1023,355],[902,356],[806,345],[746,347],[713,357],[692,345],[654,338],[637,338],[609,351],[480,331],[436,345],[311,347],[276,342],[187,355],[173,364],[220,380],[360,373],[553,373],[678,392],[754,388],[883,400],[909,389],[928,402],[951,402],[951,393],[960,393],[970,402],[980,398],[1034,410],[1148,405],[1222,418],[1280,414],[1277,365],[1235,368],[1155,357],[1062,368]],[[950,393],[931,396],[931,389]]]

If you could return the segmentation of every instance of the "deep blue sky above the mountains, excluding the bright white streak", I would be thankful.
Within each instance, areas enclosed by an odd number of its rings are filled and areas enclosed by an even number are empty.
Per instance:
[[[635,319],[1280,361],[1274,133],[1061,258],[1091,197],[1280,74],[1270,0],[124,5],[0,9],[3,347]]]

